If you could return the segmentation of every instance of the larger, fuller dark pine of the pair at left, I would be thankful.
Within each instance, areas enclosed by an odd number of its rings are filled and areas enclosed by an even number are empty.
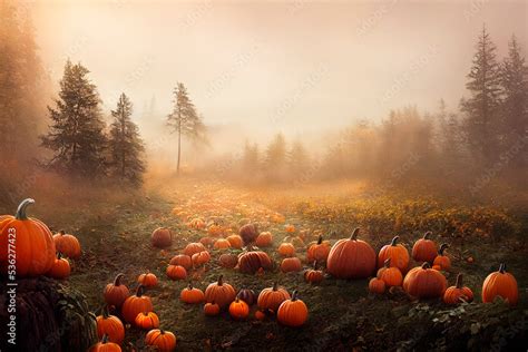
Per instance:
[[[88,74],[82,65],[67,61],[59,99],[55,108],[48,107],[52,125],[41,139],[55,154],[48,167],[92,178],[105,173],[107,140],[99,96]]]

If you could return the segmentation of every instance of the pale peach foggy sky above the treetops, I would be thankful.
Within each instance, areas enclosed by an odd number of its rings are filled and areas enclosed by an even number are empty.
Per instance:
[[[390,108],[457,108],[486,22],[499,56],[527,51],[528,1],[28,2],[53,81],[81,61],[105,109],[125,91],[135,119],[163,117],[183,81],[209,125],[310,133]]]

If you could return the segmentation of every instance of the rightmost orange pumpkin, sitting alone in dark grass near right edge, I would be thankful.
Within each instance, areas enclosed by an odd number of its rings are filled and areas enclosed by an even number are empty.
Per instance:
[[[506,265],[500,264],[499,270],[486,277],[482,284],[482,302],[493,302],[497,296],[507,300],[510,305],[519,301],[519,289],[514,275],[506,272]]]

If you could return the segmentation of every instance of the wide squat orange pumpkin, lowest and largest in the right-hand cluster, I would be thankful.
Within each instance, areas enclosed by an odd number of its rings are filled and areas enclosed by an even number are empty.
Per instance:
[[[403,280],[403,290],[418,299],[442,297],[446,289],[446,277],[427,262],[409,271]]]

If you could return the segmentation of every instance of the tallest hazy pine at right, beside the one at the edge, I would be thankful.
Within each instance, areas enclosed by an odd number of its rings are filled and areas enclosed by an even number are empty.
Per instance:
[[[496,51],[497,47],[483,27],[466,84],[471,97],[461,102],[467,114],[466,129],[471,151],[483,165],[489,165],[498,150],[495,130],[499,127],[501,77]]]

